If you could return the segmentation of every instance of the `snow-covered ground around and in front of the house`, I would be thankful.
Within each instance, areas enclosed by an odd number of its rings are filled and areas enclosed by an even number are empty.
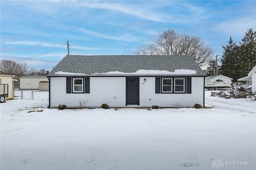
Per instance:
[[[256,101],[210,92],[205,91],[210,109],[116,111],[48,109],[48,92],[20,100],[16,91],[16,100],[0,104],[0,168],[256,169]]]

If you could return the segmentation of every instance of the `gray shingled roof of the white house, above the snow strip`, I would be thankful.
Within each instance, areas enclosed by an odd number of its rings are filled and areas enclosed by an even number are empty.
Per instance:
[[[110,71],[131,73],[137,70],[174,72],[177,69],[195,70],[196,74],[193,74],[194,76],[206,76],[206,73],[189,55],[66,55],[48,76],[64,76],[55,74],[59,71],[92,75]]]

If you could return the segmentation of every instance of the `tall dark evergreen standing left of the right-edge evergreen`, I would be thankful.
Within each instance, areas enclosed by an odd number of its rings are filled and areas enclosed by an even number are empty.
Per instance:
[[[233,78],[233,82],[236,82],[238,78],[242,78],[240,47],[236,42],[234,42],[234,39],[230,37],[228,45],[222,46],[222,48],[222,65],[220,67],[221,74]]]

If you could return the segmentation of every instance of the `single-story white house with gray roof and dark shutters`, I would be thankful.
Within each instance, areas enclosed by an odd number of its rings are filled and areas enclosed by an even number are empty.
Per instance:
[[[49,106],[204,106],[205,77],[189,55],[66,55],[48,74]]]

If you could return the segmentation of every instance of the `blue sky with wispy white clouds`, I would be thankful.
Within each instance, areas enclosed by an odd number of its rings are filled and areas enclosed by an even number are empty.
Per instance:
[[[221,57],[230,36],[238,43],[248,29],[256,30],[254,0],[0,3],[1,59],[46,70],[67,55],[67,41],[73,55],[134,55],[139,45],[172,28],[201,37]]]

